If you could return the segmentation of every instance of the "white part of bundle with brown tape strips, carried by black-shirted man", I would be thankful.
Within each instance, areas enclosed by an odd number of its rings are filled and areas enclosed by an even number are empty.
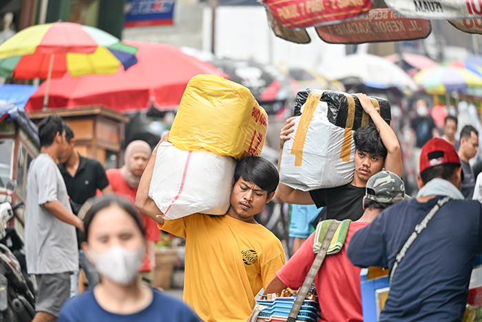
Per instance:
[[[353,131],[350,161],[345,162],[340,158],[345,129],[330,123],[327,112],[326,102],[319,102],[306,132],[300,166],[295,165],[296,157],[291,154],[301,116],[295,118],[295,131],[290,134],[291,139],[283,145],[280,182],[291,188],[308,191],[337,187],[352,181],[355,170]]]

